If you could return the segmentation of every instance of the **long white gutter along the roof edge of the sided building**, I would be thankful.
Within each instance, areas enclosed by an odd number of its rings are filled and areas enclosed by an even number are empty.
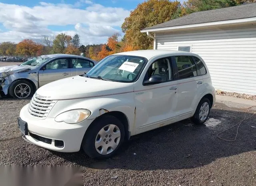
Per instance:
[[[142,32],[142,33],[146,32],[148,34],[148,32],[158,32],[158,31],[177,30],[177,29],[186,29],[186,28],[197,28],[197,27],[216,26],[216,25],[235,24],[235,23],[246,23],[246,22],[255,22],[255,21],[256,21],[256,17],[238,19],[238,20],[217,21],[217,22],[210,22],[210,23],[190,24],[190,25],[183,25],[183,26],[152,28],[152,29],[141,30],[140,32]]]

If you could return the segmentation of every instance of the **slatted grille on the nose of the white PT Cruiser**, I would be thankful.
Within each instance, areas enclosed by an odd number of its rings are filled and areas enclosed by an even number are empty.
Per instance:
[[[45,119],[55,103],[56,101],[54,100],[49,100],[34,94],[28,106],[28,112],[34,117]]]

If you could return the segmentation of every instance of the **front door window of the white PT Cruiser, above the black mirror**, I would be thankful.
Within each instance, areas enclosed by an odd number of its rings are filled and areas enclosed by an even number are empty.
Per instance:
[[[163,81],[172,80],[172,70],[168,58],[159,59],[149,67],[144,80],[148,80],[152,75],[159,75]]]

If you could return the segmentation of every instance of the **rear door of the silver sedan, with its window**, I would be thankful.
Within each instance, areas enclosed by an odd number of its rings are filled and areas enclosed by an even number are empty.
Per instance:
[[[94,63],[87,59],[82,58],[71,58],[71,75],[84,75],[87,73],[92,67]]]

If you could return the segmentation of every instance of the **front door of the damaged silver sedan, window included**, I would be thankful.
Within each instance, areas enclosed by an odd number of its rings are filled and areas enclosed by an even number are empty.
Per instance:
[[[66,77],[70,77],[69,58],[54,59],[39,70],[39,87]]]

